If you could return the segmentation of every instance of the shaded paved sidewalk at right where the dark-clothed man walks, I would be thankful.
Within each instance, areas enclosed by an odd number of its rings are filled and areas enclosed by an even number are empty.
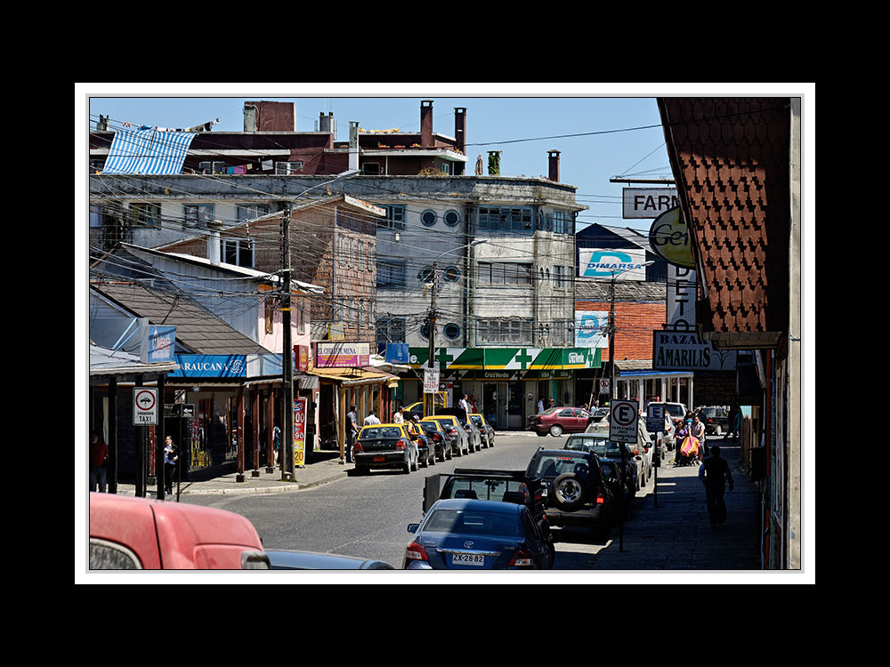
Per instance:
[[[672,462],[664,462],[658,470],[657,496],[653,480],[646,485],[648,494],[642,498],[638,494],[635,510],[624,524],[623,541],[618,528],[613,530],[611,543],[595,554],[587,567],[761,571],[756,487],[740,466],[740,447],[720,438],[708,444],[720,446],[720,455],[729,462],[735,482],[732,491],[726,489],[724,525],[710,524],[698,465],[675,468]]]

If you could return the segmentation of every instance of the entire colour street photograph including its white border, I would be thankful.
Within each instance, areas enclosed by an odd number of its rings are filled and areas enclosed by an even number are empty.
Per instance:
[[[125,89],[78,84],[79,583],[813,575],[812,84]]]

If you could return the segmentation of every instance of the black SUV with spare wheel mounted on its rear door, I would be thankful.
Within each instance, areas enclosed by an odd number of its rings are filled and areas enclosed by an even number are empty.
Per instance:
[[[584,526],[608,536],[615,510],[596,454],[583,450],[538,449],[525,474],[546,483],[546,515],[551,526]]]

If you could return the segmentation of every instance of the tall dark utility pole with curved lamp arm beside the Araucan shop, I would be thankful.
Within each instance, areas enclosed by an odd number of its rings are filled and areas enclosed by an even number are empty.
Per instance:
[[[281,219],[282,260],[284,263],[281,278],[281,324],[284,327],[284,349],[281,350],[281,381],[284,385],[281,391],[281,420],[283,426],[281,431],[282,438],[284,439],[282,443],[284,461],[282,461],[281,466],[281,478],[283,480],[289,481],[294,478],[294,350],[291,349],[293,342],[290,331],[290,221],[294,213],[294,202],[310,190],[322,188],[330,183],[342,181],[346,178],[352,178],[352,176],[357,176],[359,173],[357,169],[348,169],[343,173],[338,173],[330,181],[304,189],[303,192],[290,200],[290,203],[287,205],[287,215]]]

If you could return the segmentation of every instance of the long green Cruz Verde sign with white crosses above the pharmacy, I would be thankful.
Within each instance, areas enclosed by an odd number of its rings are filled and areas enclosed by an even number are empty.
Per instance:
[[[409,366],[426,366],[427,348],[409,350]],[[442,370],[544,371],[599,368],[595,348],[438,348],[435,363]]]

